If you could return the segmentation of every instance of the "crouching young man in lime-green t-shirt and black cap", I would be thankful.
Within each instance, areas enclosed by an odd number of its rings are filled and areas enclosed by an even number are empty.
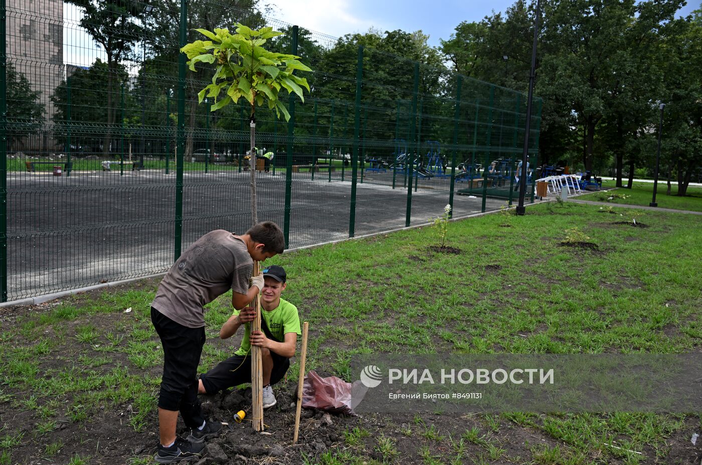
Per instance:
[[[249,334],[247,323],[256,318],[256,310],[246,307],[234,310],[222,325],[220,338],[233,336],[241,325],[246,325],[244,339],[234,356],[220,362],[205,374],[200,375],[198,392],[213,394],[239,384],[251,383],[251,346],[258,346],[263,361],[263,408],[272,407],[276,400],[271,388],[283,379],[290,367],[290,358],[295,355],[295,346],[300,334],[298,309],[280,294],[286,287],[286,273],[282,266],[273,265],[263,270],[261,292],[261,329]]]

